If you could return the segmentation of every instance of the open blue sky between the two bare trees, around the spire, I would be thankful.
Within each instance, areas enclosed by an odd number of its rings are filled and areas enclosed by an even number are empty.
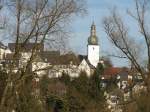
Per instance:
[[[103,29],[103,18],[110,15],[110,10],[117,7],[117,10],[134,30],[134,22],[126,16],[127,9],[133,9],[134,0],[86,0],[88,14],[84,17],[76,17],[72,24],[72,37],[70,48],[77,54],[87,54],[87,39],[90,36],[90,27],[94,21],[100,45],[100,56],[115,54],[117,49],[110,43]],[[128,60],[111,57],[114,66],[128,66]]]

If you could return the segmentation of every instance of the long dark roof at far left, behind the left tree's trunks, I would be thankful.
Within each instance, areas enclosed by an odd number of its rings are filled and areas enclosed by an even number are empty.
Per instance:
[[[8,47],[12,52],[15,51],[15,45],[16,45],[16,43],[8,44]],[[35,44],[35,43],[26,43],[26,44],[19,43],[19,48],[21,48],[21,51],[29,52],[34,48],[35,45],[37,45],[38,50],[40,50],[40,51],[44,50],[44,44],[41,44],[41,43],[37,43],[37,44]]]

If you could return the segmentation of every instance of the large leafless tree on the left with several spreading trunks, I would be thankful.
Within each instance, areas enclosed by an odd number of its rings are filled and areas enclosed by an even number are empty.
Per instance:
[[[13,17],[15,24],[13,59],[20,58],[21,51],[29,41],[34,43],[34,47],[31,49],[31,56],[23,70],[16,64],[16,61],[10,64],[7,84],[0,102],[0,111],[15,110],[17,108],[15,105],[21,103],[17,102],[17,99],[21,97],[19,95],[23,94],[20,88],[25,88],[26,80],[33,75],[30,72],[30,65],[39,52],[41,47],[39,44],[55,42],[57,34],[60,37],[66,34],[64,29],[70,22],[69,19],[75,14],[85,12],[82,0],[7,0],[7,2],[15,15]],[[12,72],[14,67],[18,68],[17,73]],[[14,101],[10,105],[9,99]],[[27,102],[25,104],[28,105]]]

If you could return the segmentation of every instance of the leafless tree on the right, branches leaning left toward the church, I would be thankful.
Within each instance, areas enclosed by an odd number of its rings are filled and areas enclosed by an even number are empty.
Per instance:
[[[134,68],[141,73],[147,90],[150,91],[150,30],[149,30],[149,0],[135,0],[135,11],[127,11],[127,15],[132,17],[138,25],[140,36],[145,41],[146,45],[146,57],[147,57],[147,72],[143,69],[140,61],[141,55],[140,45],[135,38],[135,35],[130,36],[129,29],[119,13],[112,12],[112,15],[106,17],[103,21],[105,32],[110,38],[111,42],[124,54]],[[138,33],[139,33],[138,32]]]

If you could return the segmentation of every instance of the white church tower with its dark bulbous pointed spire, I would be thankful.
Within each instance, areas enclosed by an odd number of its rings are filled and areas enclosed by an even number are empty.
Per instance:
[[[97,66],[99,63],[99,45],[98,45],[98,38],[96,36],[96,26],[93,22],[91,26],[91,35],[88,38],[88,60],[90,64],[92,64],[94,67]]]

